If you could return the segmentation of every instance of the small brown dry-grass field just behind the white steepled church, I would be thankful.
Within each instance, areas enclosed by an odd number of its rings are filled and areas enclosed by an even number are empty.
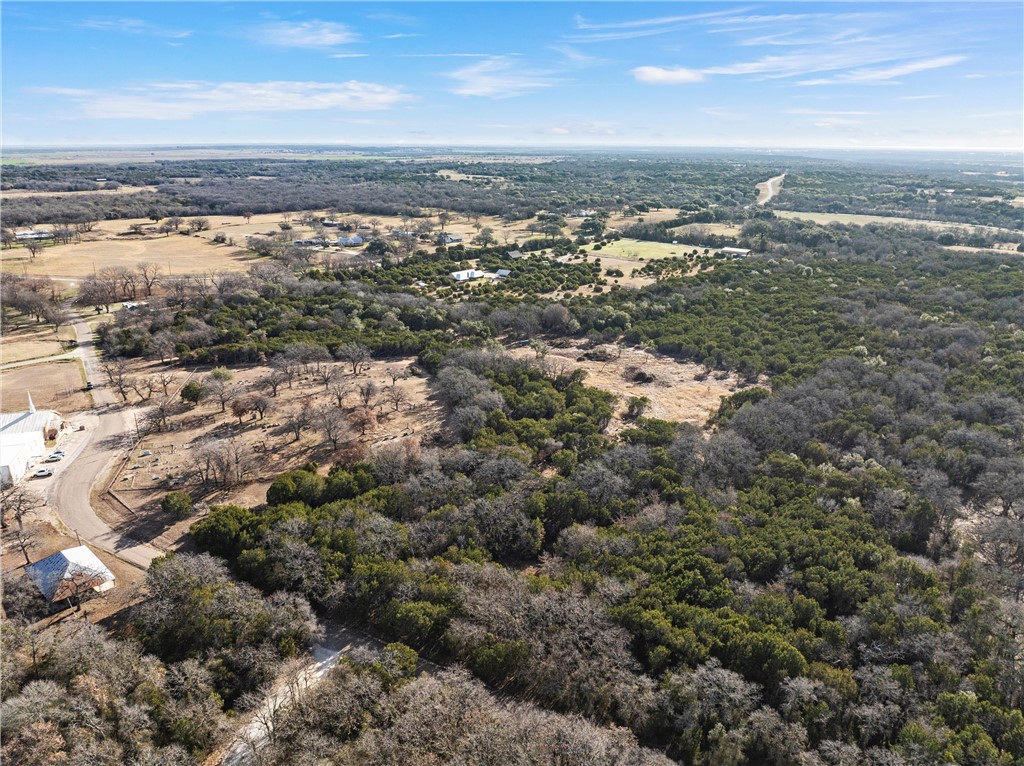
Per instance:
[[[28,395],[39,410],[71,415],[92,407],[92,396],[82,390],[85,371],[77,358],[44,361],[0,370],[0,411],[18,412],[28,406]]]

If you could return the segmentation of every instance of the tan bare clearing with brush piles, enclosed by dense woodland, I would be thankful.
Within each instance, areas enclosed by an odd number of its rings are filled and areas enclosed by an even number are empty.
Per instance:
[[[587,385],[618,396],[608,433],[617,433],[630,427],[625,416],[626,401],[631,396],[646,396],[650,399],[646,417],[702,426],[717,412],[723,396],[731,396],[744,387],[734,373],[706,376],[699,365],[647,354],[637,348],[607,346],[604,350],[611,357],[608,361],[586,359],[583,358],[583,344],[573,343],[566,348],[553,348],[545,360],[551,365],[564,366],[568,370],[586,370]],[[529,348],[515,348],[511,353],[524,357],[534,355]],[[639,383],[634,379],[636,372],[653,376],[653,380],[650,383]]]

